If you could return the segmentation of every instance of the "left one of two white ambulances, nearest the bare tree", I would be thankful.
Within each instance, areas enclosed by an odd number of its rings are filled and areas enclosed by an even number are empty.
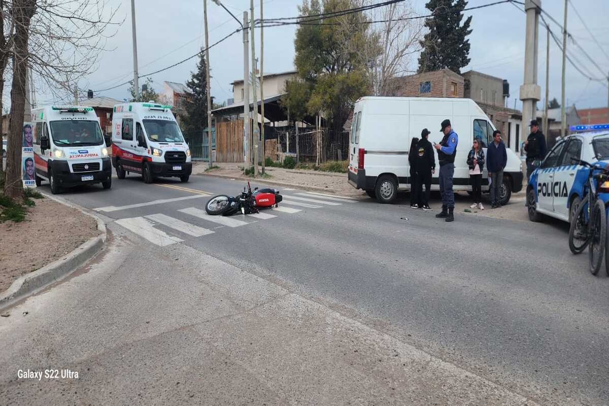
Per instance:
[[[93,108],[47,106],[32,110],[36,185],[49,181],[51,192],[63,187],[101,183],[112,186],[107,141]]]

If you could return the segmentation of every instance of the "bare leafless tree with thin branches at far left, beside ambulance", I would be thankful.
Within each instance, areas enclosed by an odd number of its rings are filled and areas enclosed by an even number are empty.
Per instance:
[[[26,68],[56,101],[72,100],[77,81],[95,71],[102,51],[108,51],[107,38],[116,34],[107,35],[108,27],[122,21],[114,22],[118,10],[107,9],[107,0],[4,3],[2,14],[11,16],[15,25],[13,46],[6,48],[13,57],[13,87],[5,194],[17,197],[23,192],[19,175]],[[18,43],[24,47],[19,49]]]

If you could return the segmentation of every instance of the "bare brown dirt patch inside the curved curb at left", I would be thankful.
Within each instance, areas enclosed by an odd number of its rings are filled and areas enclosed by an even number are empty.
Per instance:
[[[97,222],[49,198],[36,200],[21,223],[0,223],[0,292],[99,234]]]

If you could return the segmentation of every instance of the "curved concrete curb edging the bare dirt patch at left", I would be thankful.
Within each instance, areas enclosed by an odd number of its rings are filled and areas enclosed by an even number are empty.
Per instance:
[[[94,214],[84,211],[79,206],[68,203],[63,199],[51,197],[47,194],[44,194],[44,197],[77,209],[83,214],[93,217],[97,221],[97,229],[102,234],[89,239],[87,242],[80,245],[80,247],[76,248],[76,250],[67,254],[62,259],[51,262],[51,264],[48,264],[37,271],[33,271],[27,275],[21,276],[21,278],[14,281],[10,285],[9,289],[0,294],[0,309],[9,307],[16,301],[26,298],[26,296],[32,295],[32,293],[36,293],[44,289],[49,284],[65,278],[65,276],[68,276],[70,273],[77,270],[82,265],[86,264],[86,262],[90,261],[91,258],[96,256],[96,254],[99,253],[99,251],[104,247],[106,242],[106,225],[102,219]]]

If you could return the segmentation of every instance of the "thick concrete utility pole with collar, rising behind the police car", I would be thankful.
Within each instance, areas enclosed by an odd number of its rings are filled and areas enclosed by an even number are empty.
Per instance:
[[[526,0],[526,37],[524,43],[524,83],[520,86],[520,100],[523,100],[523,127],[536,117],[536,104],[541,99],[541,88],[537,85],[537,54],[539,38],[539,13],[541,0]],[[524,131],[524,128],[523,128]]]

